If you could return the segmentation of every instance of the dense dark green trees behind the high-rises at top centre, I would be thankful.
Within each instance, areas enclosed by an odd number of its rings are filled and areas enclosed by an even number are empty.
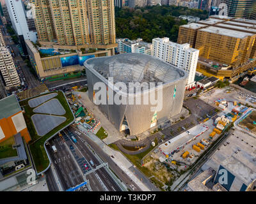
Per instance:
[[[143,38],[152,42],[153,38],[168,37],[177,41],[179,25],[188,24],[180,15],[207,18],[207,11],[189,9],[182,6],[146,6],[143,8],[115,8],[116,37],[135,40]]]

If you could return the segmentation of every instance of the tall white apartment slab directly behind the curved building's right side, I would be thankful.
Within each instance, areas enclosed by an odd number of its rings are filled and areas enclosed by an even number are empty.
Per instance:
[[[169,38],[154,38],[152,49],[152,55],[188,73],[186,89],[195,85],[199,50],[190,48],[188,43],[173,43]]]

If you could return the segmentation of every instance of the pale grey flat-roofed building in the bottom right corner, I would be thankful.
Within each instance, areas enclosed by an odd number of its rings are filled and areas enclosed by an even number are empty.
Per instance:
[[[211,167],[215,171],[228,171],[227,191],[245,191],[256,179],[256,139],[236,130],[227,141],[214,152],[202,169]],[[215,178],[215,183],[218,178]]]

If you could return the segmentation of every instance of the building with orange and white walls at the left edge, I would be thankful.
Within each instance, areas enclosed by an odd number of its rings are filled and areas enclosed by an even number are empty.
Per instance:
[[[27,184],[26,170],[33,169],[27,143],[31,137],[15,95],[0,100],[0,191]]]

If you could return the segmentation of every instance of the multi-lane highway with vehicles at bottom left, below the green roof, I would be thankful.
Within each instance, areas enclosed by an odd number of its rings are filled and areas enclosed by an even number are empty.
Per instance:
[[[76,136],[77,142],[74,143],[71,139],[73,134],[69,129],[65,129],[61,134],[62,138],[55,136],[49,141],[47,150],[64,190],[75,187],[84,182],[84,180],[89,181],[88,188],[92,191],[122,190],[106,171],[106,166],[103,165],[93,171],[101,163],[79,136]],[[52,145],[55,145],[56,153],[52,150]],[[94,165],[90,163],[91,160]],[[86,168],[88,169],[86,170]]]

